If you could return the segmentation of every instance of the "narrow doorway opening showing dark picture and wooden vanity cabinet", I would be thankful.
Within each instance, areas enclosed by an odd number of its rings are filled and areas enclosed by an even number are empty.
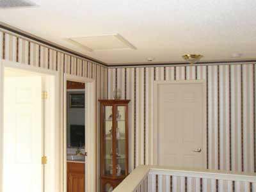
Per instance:
[[[67,192],[85,191],[85,83],[67,81]]]

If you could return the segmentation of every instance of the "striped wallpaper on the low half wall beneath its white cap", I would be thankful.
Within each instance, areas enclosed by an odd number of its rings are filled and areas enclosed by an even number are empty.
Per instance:
[[[177,175],[158,175],[149,173],[148,186],[144,182],[133,192],[255,192],[256,182],[246,182],[231,179],[209,179],[202,177],[187,177]],[[218,174],[217,174],[218,177]]]

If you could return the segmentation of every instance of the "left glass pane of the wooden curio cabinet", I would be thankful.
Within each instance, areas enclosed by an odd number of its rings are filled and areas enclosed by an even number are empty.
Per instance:
[[[113,107],[104,106],[104,175],[113,175]]]

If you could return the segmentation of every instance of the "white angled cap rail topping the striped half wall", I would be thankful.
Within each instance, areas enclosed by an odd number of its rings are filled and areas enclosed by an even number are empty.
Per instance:
[[[230,172],[221,170],[202,170],[189,168],[174,168],[168,166],[140,165],[118,185],[113,192],[131,192],[148,174],[173,175],[179,177],[196,177],[205,179],[223,179],[242,182],[256,182],[255,173]]]

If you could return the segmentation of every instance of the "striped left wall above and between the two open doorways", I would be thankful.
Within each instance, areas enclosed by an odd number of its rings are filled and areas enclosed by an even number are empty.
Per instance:
[[[63,52],[23,36],[0,29],[0,59],[14,61],[20,65],[45,68],[60,72],[61,87],[63,87],[63,74],[72,74],[79,77],[95,79],[96,84],[96,122],[97,135],[99,135],[99,102],[108,95],[108,68],[84,58],[79,58],[68,52]],[[63,89],[61,88],[61,92]],[[63,102],[61,95],[60,103]],[[62,106],[62,105],[61,105]],[[63,111],[61,111],[63,113]],[[62,116],[62,115],[61,115]],[[99,143],[99,138],[97,143]],[[99,154],[99,145],[97,146]],[[99,164],[99,163],[97,163]],[[99,167],[97,167],[99,170]]]

